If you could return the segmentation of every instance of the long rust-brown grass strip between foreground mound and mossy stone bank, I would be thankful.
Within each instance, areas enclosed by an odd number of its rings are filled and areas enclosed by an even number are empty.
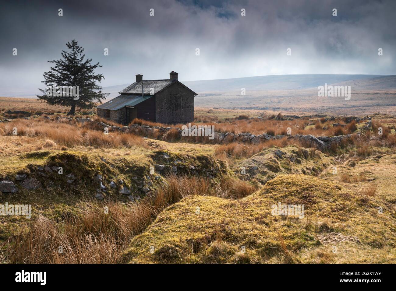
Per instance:
[[[29,230],[8,240],[6,259],[23,264],[116,263],[133,236],[143,232],[164,208],[182,198],[210,195],[237,199],[255,190],[236,179],[223,178],[211,183],[206,178],[172,175],[153,196],[137,203],[84,202],[76,214],[65,213],[61,223],[38,216]]]

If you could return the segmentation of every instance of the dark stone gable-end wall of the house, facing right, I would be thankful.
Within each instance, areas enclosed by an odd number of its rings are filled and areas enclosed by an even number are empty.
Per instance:
[[[194,120],[194,94],[175,83],[155,95],[156,122],[188,123]]]

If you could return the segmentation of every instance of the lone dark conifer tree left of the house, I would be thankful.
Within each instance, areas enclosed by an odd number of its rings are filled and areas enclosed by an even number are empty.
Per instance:
[[[36,95],[49,105],[62,105],[71,107],[67,115],[74,115],[76,107],[81,109],[91,109],[96,102],[101,102],[109,93],[102,93],[102,87],[96,84],[101,82],[103,74],[94,74],[96,68],[101,68],[99,63],[91,65],[92,59],[86,59],[82,53],[84,49],[78,46],[76,40],[66,44],[68,51],[62,50],[60,60],[48,61],[53,63],[49,72],[44,72],[46,89],[39,89],[43,94]],[[57,86],[55,90],[52,87]],[[59,87],[58,87],[59,86]],[[79,96],[62,92],[62,87],[79,86]],[[71,89],[71,87],[70,87]],[[57,91],[55,94],[53,92]],[[50,93],[48,93],[50,92]],[[69,96],[67,96],[69,95]]]

